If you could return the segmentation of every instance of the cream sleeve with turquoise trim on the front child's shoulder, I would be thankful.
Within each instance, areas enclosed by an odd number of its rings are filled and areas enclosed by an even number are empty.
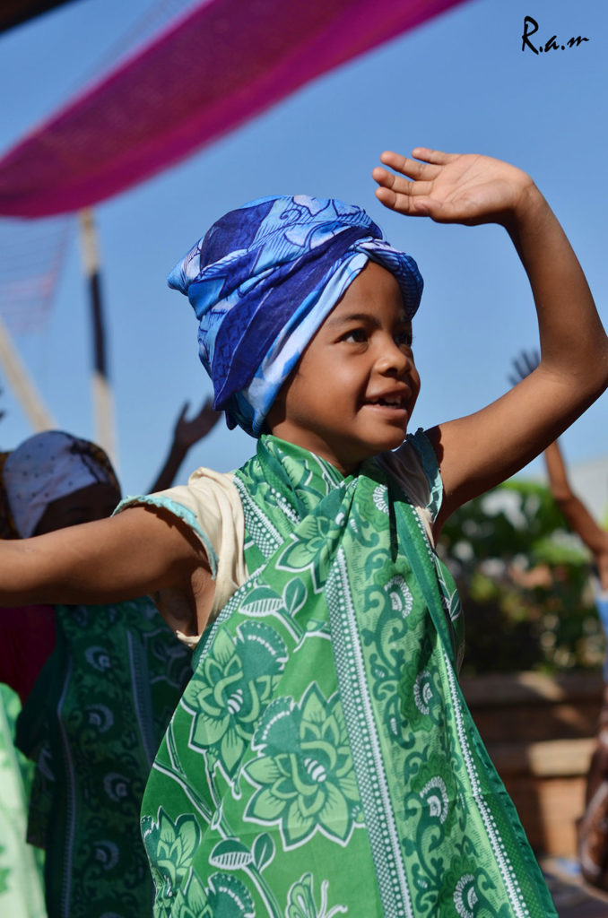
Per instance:
[[[187,485],[125,498],[115,512],[134,506],[160,507],[184,521],[202,543],[215,580],[213,621],[231,595],[247,579],[244,559],[244,518],[231,472],[198,468]]]

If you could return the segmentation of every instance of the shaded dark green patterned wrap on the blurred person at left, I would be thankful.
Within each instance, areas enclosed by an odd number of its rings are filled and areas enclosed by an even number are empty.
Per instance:
[[[57,644],[17,721],[36,761],[28,840],[49,918],[150,918],[145,782],[191,673],[152,600],[57,606]]]

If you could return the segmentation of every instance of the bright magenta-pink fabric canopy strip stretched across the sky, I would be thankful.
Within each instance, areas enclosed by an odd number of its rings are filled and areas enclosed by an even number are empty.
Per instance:
[[[210,0],[0,160],[0,215],[88,207],[463,0]]]

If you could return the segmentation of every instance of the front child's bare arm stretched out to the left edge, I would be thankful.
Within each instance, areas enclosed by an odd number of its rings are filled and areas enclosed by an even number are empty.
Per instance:
[[[2,541],[0,571],[2,606],[118,602],[175,588],[200,626],[213,599],[200,543],[175,518],[143,507],[31,539]]]

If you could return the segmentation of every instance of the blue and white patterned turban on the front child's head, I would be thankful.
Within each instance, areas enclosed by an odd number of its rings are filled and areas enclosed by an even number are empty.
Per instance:
[[[418,266],[365,210],[330,198],[261,197],[231,210],[175,265],[167,282],[198,319],[214,407],[257,437],[315,332],[368,260],[394,274],[411,318]]]

